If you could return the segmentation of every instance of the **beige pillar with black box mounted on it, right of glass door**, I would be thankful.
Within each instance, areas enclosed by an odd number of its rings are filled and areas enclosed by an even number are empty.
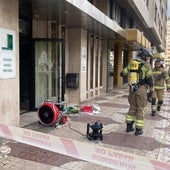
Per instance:
[[[86,99],[86,72],[82,71],[82,55],[87,51],[87,32],[75,28],[66,31],[66,74],[79,73],[79,88],[66,88],[69,103],[79,103]]]

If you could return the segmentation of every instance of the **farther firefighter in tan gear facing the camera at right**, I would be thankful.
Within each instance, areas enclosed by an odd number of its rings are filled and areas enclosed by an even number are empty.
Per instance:
[[[155,91],[152,94],[151,101],[152,116],[155,116],[156,111],[161,110],[164,99],[164,89],[166,88],[167,91],[170,92],[170,79],[168,76],[168,72],[161,64],[161,60],[156,60],[154,65],[155,67],[153,68],[152,72]]]

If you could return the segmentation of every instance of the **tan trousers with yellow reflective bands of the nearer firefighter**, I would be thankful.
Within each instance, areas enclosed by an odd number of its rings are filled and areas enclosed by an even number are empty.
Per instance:
[[[126,115],[126,122],[135,122],[136,128],[142,129],[144,126],[144,114],[147,105],[147,87],[140,86],[138,90],[129,89],[128,101],[129,111]]]

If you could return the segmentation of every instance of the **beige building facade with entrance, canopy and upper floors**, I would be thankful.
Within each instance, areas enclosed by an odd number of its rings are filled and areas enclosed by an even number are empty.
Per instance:
[[[166,0],[0,0],[1,120],[121,87],[140,47],[165,50],[166,11]]]

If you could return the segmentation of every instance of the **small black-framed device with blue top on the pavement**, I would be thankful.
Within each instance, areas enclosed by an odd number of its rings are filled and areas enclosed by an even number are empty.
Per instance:
[[[103,128],[103,125],[99,121],[96,121],[94,124],[88,123],[87,133],[86,133],[87,138],[89,140],[97,140],[98,138],[100,140],[103,140],[102,128]]]

